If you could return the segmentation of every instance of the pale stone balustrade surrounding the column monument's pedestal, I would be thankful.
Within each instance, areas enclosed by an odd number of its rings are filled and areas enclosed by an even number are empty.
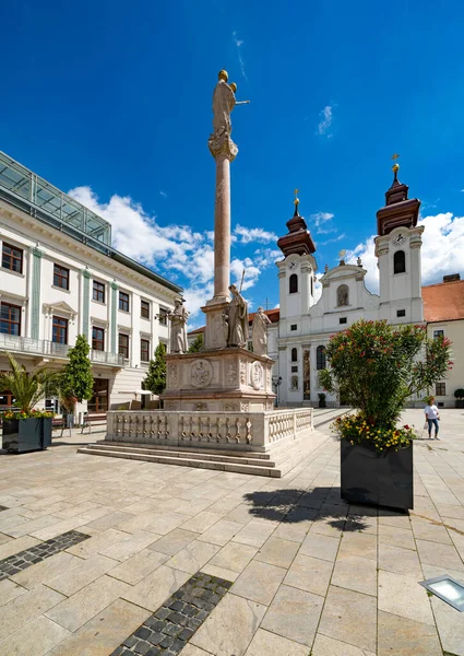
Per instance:
[[[312,431],[312,408],[267,412],[115,410],[105,441],[266,452]]]

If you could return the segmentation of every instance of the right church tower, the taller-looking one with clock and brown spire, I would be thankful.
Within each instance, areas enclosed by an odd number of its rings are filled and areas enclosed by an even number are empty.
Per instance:
[[[398,169],[395,163],[385,206],[377,212],[380,318],[391,324],[416,324],[424,319],[420,270],[424,226],[417,226],[420,200],[407,197],[408,186],[398,180]]]

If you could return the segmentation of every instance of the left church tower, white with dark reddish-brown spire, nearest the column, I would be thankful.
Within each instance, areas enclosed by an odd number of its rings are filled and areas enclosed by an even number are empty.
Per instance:
[[[316,246],[305,219],[299,214],[299,199],[295,198],[294,203],[294,215],[287,221],[288,233],[277,241],[277,246],[285,258],[277,262],[281,328],[283,327],[282,319],[306,315],[314,304],[316,270],[318,268],[313,256]],[[296,321],[298,328],[300,323],[300,320]]]

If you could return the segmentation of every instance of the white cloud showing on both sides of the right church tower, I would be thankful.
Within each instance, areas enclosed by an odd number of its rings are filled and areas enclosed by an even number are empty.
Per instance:
[[[448,273],[464,271],[464,216],[454,216],[452,212],[420,218],[418,225],[424,225],[421,265],[423,284],[441,282]],[[345,260],[356,263],[359,256],[362,267],[367,269],[366,285],[378,293],[379,270],[374,254],[374,235],[347,251]]]

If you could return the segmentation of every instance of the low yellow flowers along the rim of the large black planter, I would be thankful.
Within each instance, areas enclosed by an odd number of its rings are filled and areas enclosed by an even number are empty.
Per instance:
[[[338,437],[349,440],[350,444],[368,442],[378,452],[388,448],[393,450],[405,448],[416,437],[414,430],[407,424],[401,429],[377,426],[374,423],[367,421],[360,412],[338,417],[331,427]]]

